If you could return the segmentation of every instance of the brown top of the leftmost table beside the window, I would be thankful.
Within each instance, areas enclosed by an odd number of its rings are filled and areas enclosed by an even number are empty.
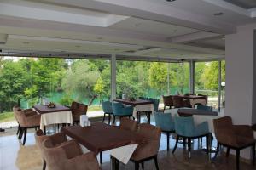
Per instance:
[[[58,112],[58,111],[70,111],[70,108],[64,105],[56,105],[55,108],[49,108],[47,105],[34,105],[33,108],[40,114]]]

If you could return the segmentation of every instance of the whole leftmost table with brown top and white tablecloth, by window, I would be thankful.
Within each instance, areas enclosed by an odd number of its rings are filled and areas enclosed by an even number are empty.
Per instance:
[[[72,112],[66,106],[56,105],[55,108],[49,108],[47,105],[34,105],[33,109],[41,115],[40,129],[42,130],[49,124],[73,123]]]

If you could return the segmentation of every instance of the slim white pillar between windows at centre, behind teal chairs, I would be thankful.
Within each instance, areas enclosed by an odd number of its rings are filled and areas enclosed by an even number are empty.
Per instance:
[[[111,56],[111,100],[116,99],[116,55]]]

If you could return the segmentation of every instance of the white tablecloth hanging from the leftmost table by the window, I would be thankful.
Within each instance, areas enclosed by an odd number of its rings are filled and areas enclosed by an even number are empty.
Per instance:
[[[34,110],[36,111],[36,110]],[[38,111],[37,111],[38,112]],[[39,114],[39,113],[38,113]],[[57,111],[41,114],[40,129],[44,130],[44,126],[57,123],[73,123],[71,111]]]

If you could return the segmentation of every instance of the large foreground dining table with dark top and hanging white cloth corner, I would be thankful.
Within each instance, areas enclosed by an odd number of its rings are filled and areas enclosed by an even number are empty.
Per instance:
[[[77,140],[79,144],[84,145],[86,149],[94,152],[96,155],[101,154],[102,151],[114,150],[115,157],[111,156],[113,169],[119,169],[119,161],[127,163],[137,145],[143,144],[146,141],[145,137],[136,132],[103,122],[96,122],[88,127],[62,127],[61,132]],[[102,156],[100,159],[102,159]]]

